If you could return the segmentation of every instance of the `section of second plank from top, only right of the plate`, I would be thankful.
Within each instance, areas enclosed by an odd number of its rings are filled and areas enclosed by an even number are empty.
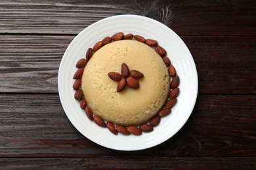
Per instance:
[[[200,93],[255,93],[255,37],[181,37],[196,67]]]

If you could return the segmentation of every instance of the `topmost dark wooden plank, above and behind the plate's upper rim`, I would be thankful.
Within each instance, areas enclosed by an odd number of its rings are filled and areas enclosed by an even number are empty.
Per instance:
[[[179,35],[256,35],[255,1],[0,2],[0,33],[77,34],[118,14],[148,16]]]

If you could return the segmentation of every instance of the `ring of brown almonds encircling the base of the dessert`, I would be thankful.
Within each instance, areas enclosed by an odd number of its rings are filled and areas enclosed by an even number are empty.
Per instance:
[[[85,66],[87,65],[87,61],[91,59],[93,54],[99,50],[102,46],[109,44],[113,41],[119,41],[119,40],[125,40],[125,39],[135,39],[136,41],[142,42],[144,44],[147,44],[148,46],[154,48],[156,52],[161,56],[163,59],[163,62],[165,63],[169,75],[171,76],[171,83],[170,83],[170,92],[169,92],[169,98],[166,101],[165,105],[163,108],[154,116],[153,118],[150,119],[150,121],[146,124],[140,124],[140,126],[121,126],[121,125],[115,125],[112,122],[105,122],[100,116],[94,115],[93,110],[87,105],[87,101],[85,99],[85,96],[83,95],[83,90],[81,90],[81,77],[83,76],[83,70],[85,69]],[[133,35],[131,33],[124,35],[122,32],[115,33],[112,35],[112,37],[105,37],[102,39],[102,41],[96,42],[96,44],[93,46],[93,48],[89,48],[87,50],[87,53],[85,55],[85,58],[79,59],[77,61],[76,66],[77,71],[75,72],[73,78],[75,79],[75,82],[73,84],[73,88],[75,90],[75,99],[79,101],[81,109],[85,110],[85,114],[89,118],[89,120],[94,121],[98,126],[101,127],[108,127],[108,129],[117,135],[117,133],[122,133],[123,135],[141,135],[142,132],[150,132],[153,131],[155,126],[158,126],[160,124],[161,117],[167,116],[168,114],[171,113],[171,108],[177,103],[177,96],[179,95],[179,76],[176,73],[175,67],[171,65],[171,61],[169,58],[167,58],[167,52],[164,48],[158,45],[158,41],[153,40],[153,39],[144,39],[144,37],[140,35]],[[125,63],[123,63],[125,64]],[[126,65],[127,66],[127,65]],[[125,66],[125,67],[126,67]],[[123,67],[123,65],[122,65]],[[123,69],[123,68],[121,68]],[[128,69],[129,71],[129,69]],[[133,73],[130,71],[131,78],[133,78]],[[109,76],[109,75],[108,75]],[[111,78],[111,77],[110,77]],[[124,78],[122,78],[124,79]],[[128,78],[126,78],[126,81]],[[113,80],[113,79],[112,79]],[[125,81],[125,80],[123,80]],[[121,82],[121,81],[120,81]],[[128,82],[127,82],[128,84]],[[128,84],[129,86],[129,84]],[[131,87],[131,86],[130,86]],[[123,87],[122,87],[123,88]],[[133,87],[131,87],[133,88]],[[139,87],[138,87],[139,88]],[[121,92],[120,89],[118,89],[117,86],[117,92]]]

